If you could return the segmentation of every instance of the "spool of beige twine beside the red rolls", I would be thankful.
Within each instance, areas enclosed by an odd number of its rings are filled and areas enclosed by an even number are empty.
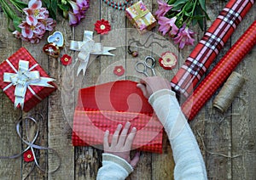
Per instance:
[[[232,72],[227,82],[221,88],[220,92],[213,100],[213,107],[220,110],[222,113],[228,110],[233,99],[236,97],[237,93],[241,90],[245,82],[245,78],[237,72]]]

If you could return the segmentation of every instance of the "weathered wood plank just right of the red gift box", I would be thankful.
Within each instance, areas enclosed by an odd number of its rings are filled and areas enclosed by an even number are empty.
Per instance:
[[[61,31],[64,35],[65,42],[68,43],[73,38],[72,28],[68,25],[68,21],[59,17],[55,31]],[[65,46],[61,50],[61,54],[69,54],[68,47]],[[65,81],[64,69],[61,65],[60,58],[54,59],[49,57],[49,76],[55,78],[58,89],[49,96],[48,106],[48,136],[49,147],[55,149],[61,157],[61,166],[57,172],[50,173],[50,179],[73,179],[74,178],[74,149],[71,143],[71,131],[69,119],[63,113],[61,89],[62,81]],[[72,93],[68,94],[71,96]],[[54,155],[48,157],[49,171],[55,170],[60,162],[59,158]]]

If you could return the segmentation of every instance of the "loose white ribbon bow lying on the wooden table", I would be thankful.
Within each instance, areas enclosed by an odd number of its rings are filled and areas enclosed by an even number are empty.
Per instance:
[[[96,55],[114,56],[113,53],[109,53],[108,51],[114,50],[116,48],[103,47],[100,42],[95,42],[93,40],[92,31],[84,31],[83,42],[71,41],[70,49],[74,51],[80,51],[78,58],[76,59],[76,62],[80,61],[79,70],[77,73],[77,76],[79,76],[81,70],[83,70],[83,74],[85,74],[86,67],[90,59],[90,53]]]

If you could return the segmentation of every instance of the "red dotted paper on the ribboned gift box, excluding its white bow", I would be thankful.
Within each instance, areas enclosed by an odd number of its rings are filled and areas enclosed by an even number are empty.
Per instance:
[[[18,70],[20,59],[29,61],[29,68],[31,68],[33,65],[38,64],[38,62],[26,50],[26,48],[20,48],[18,51],[16,51],[14,54],[12,54],[9,57],[9,62],[12,65],[14,65],[16,70]],[[32,70],[38,70],[40,72],[40,76],[42,76],[42,77],[49,77],[40,65],[36,66]],[[0,64],[0,87],[2,89],[9,85],[9,82],[3,82],[3,74],[5,72],[15,73],[15,70],[13,70],[9,66],[9,64],[6,62],[6,60],[4,60],[3,63]],[[36,93],[36,95],[39,98],[44,99],[44,98],[48,97],[50,93],[52,93],[56,90],[56,86],[53,82],[49,82],[49,84],[54,87],[39,87],[39,86],[30,86],[30,87],[32,87],[32,90]],[[9,99],[13,103],[15,103],[15,86],[9,87],[7,90],[3,91],[3,93],[6,93],[6,95],[9,97]],[[35,95],[33,95],[27,89],[23,110],[26,112],[31,110],[36,104],[41,102],[41,100],[39,98],[37,98]],[[20,108],[20,104],[18,105],[17,108]]]

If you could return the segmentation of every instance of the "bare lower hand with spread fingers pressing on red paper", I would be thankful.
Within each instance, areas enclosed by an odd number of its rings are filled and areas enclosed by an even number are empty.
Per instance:
[[[132,127],[131,132],[128,134],[130,127],[131,122],[127,121],[124,129],[121,131],[122,125],[119,124],[113,133],[113,138],[110,145],[108,143],[109,131],[106,131],[104,135],[103,147],[105,153],[117,155],[120,158],[123,158],[134,168],[139,160],[139,153],[137,153],[131,160],[130,151],[137,129],[136,127]]]

